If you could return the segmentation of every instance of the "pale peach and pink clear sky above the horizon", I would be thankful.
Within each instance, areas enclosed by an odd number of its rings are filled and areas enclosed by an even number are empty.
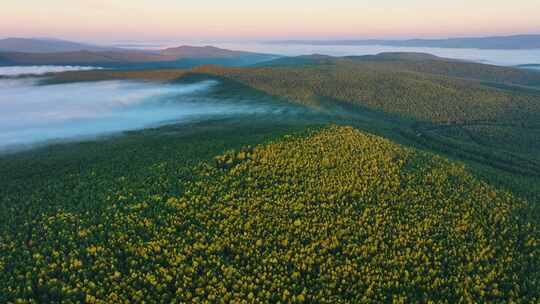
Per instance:
[[[442,38],[540,33],[540,0],[3,1],[0,38]]]

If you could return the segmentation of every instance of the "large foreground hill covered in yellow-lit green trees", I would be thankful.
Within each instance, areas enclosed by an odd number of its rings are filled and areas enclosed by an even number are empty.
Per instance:
[[[241,132],[253,140],[253,131]],[[8,271],[0,272],[0,299],[539,299],[540,240],[518,216],[524,203],[463,166],[331,126],[183,168],[225,142],[215,133],[168,136],[162,145],[97,144],[133,155],[114,159],[91,156],[87,144],[72,162],[51,154],[34,169],[21,167],[17,175],[60,162],[71,172],[78,158],[92,164],[86,173],[54,175],[43,188],[30,177],[41,195],[25,194],[22,205],[13,204],[15,192],[2,196],[0,266]],[[143,157],[161,161],[125,171]],[[74,180],[81,186],[71,187]],[[47,203],[52,189],[57,199]]]

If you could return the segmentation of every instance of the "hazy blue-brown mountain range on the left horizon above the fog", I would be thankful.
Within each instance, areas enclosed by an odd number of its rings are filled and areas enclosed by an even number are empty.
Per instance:
[[[0,40],[0,65],[101,65],[114,67],[190,67],[199,64],[249,65],[278,58],[212,46],[129,50],[56,39]]]

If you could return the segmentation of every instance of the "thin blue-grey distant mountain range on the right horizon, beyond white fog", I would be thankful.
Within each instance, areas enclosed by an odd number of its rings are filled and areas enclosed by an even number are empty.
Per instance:
[[[475,49],[540,49],[540,35],[514,35],[481,38],[410,39],[410,40],[280,40],[272,44],[304,45],[384,45],[395,47],[436,47]]]

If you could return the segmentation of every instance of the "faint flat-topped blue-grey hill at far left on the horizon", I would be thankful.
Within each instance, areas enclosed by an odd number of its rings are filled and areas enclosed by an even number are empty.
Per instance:
[[[61,53],[78,51],[110,51],[114,48],[71,42],[60,39],[6,38],[0,39],[0,52]]]

